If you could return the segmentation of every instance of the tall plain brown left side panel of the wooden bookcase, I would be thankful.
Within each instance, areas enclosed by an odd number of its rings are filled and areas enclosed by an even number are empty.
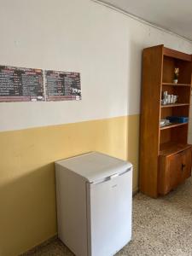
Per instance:
[[[143,87],[140,126],[140,190],[157,197],[160,139],[160,87],[163,45],[143,50]]]

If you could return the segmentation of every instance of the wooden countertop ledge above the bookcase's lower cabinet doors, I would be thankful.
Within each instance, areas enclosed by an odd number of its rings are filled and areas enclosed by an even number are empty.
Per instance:
[[[189,144],[182,143],[163,143],[160,144],[160,155],[172,155],[177,154],[185,149],[191,148]]]

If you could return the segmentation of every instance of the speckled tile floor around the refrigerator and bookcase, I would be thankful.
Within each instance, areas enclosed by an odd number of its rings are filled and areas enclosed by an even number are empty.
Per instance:
[[[55,239],[23,256],[73,256]],[[192,255],[192,178],[159,199],[137,194],[133,200],[133,236],[116,256]]]

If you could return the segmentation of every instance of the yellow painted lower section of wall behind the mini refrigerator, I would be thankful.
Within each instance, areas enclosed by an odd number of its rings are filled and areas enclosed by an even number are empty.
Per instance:
[[[0,256],[56,233],[55,160],[92,150],[130,160],[137,189],[139,115],[0,133]]]

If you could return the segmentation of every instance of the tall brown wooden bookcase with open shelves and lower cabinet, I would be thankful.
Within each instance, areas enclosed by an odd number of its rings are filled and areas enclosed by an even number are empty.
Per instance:
[[[173,83],[174,68],[178,83]],[[167,116],[189,117],[192,55],[158,45],[143,50],[140,129],[140,190],[151,197],[166,195],[190,177],[192,146],[188,123],[160,127]],[[175,104],[161,105],[163,91],[177,95]]]

